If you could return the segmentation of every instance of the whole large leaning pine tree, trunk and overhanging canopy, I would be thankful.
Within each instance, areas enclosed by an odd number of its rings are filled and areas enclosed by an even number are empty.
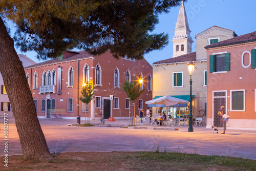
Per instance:
[[[110,51],[114,57],[136,59],[167,45],[167,34],[151,34],[158,14],[181,0],[2,0],[0,1],[0,72],[15,117],[25,158],[48,160],[33,98],[14,41],[2,18],[16,25],[14,40],[23,52],[39,59],[55,58],[72,48],[93,55]],[[97,48],[96,48],[97,47]]]

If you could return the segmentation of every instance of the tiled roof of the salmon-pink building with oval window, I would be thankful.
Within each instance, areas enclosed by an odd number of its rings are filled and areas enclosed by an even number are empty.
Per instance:
[[[221,47],[221,46],[228,46],[228,45],[235,45],[235,44],[243,44],[246,42],[256,41],[256,31],[244,34],[241,36],[233,37],[227,40],[223,40],[217,42],[215,44],[211,44],[205,47],[205,49],[212,48],[212,47]]]

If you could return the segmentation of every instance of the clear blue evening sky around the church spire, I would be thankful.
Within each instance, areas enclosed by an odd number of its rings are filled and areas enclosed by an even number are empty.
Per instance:
[[[232,30],[237,35],[247,34],[256,31],[255,22],[255,0],[188,0],[184,3],[188,18],[190,36],[193,38],[193,52],[196,51],[195,35],[212,27],[218,26]],[[173,55],[172,39],[180,7],[170,9],[169,13],[159,15],[159,24],[155,33],[167,33],[169,44],[162,50],[146,54],[145,59],[152,64],[155,61],[171,58]],[[17,54],[20,54],[16,48]],[[26,52],[29,58],[36,62],[34,52]]]

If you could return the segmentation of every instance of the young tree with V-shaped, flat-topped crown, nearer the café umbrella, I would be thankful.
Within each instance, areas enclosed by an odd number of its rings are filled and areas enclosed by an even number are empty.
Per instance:
[[[135,83],[129,82],[129,81],[125,81],[122,88],[127,94],[127,97],[132,101],[132,104],[133,104],[133,101],[136,100],[145,90],[145,89],[141,90],[139,85],[135,85]],[[131,113],[132,113],[132,119],[133,119],[135,116],[135,113],[133,115],[133,107],[131,111],[132,111]]]

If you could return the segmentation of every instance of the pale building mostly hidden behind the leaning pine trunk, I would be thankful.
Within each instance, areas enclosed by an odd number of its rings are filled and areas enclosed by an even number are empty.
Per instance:
[[[32,59],[28,58],[26,55],[19,54],[18,55],[20,62],[22,62],[23,67],[31,66],[36,64],[35,61]],[[28,75],[27,75],[28,78]],[[29,79],[29,78],[28,78]],[[3,77],[0,73],[0,85],[1,85],[1,94],[0,94],[0,105],[1,105],[1,110],[0,110],[0,117],[4,116],[4,113],[8,113],[9,117],[13,116],[12,113],[12,108],[10,105],[9,98],[7,96],[7,92],[5,90],[5,85],[3,81]]]

